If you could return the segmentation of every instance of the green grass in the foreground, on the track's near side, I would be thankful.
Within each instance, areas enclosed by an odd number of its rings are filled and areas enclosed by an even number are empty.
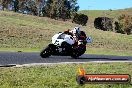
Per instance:
[[[87,63],[0,68],[0,88],[132,88],[130,84],[86,84],[76,82],[78,68],[87,74],[130,74],[131,63]]]

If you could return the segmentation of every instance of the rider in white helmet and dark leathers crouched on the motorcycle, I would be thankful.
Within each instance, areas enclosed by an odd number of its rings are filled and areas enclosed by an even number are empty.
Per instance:
[[[84,31],[81,31],[80,27],[75,27],[73,30],[64,31],[64,33],[71,35],[74,39],[74,44],[67,44],[65,48],[68,52],[80,52],[80,54],[86,51],[86,34]]]

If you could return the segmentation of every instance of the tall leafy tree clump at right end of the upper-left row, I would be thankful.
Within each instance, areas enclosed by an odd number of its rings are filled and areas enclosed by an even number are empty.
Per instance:
[[[43,8],[43,15],[50,18],[70,19],[79,6],[77,0],[47,0]]]

